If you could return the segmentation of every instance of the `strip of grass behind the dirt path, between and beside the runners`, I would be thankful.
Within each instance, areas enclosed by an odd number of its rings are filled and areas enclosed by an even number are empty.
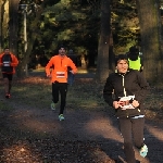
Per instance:
[[[0,90],[3,91],[2,83]],[[103,101],[102,90],[102,84],[97,84],[93,80],[76,79],[73,86],[68,86],[67,106],[75,110],[108,109],[109,106]],[[50,80],[45,76],[30,76],[24,79],[15,79],[12,87],[12,97],[10,100],[16,102],[16,104],[48,110],[52,100]],[[152,88],[151,93],[145,102],[147,118],[162,120],[162,87],[159,89]],[[10,109],[12,109],[12,105],[5,101],[0,101],[0,110]]]

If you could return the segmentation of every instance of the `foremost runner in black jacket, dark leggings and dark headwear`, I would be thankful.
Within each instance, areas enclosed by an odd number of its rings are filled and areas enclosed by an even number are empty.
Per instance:
[[[128,60],[125,54],[117,57],[116,68],[117,73],[111,74],[106,79],[103,98],[109,105],[115,109],[118,117],[126,161],[136,163],[133,138],[141,156],[145,158],[148,152],[148,148],[143,143],[143,102],[149,85],[140,72],[128,70]]]

